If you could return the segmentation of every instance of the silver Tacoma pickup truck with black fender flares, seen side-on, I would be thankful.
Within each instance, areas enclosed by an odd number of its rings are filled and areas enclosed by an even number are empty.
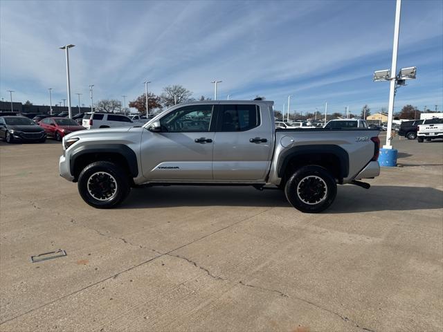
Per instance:
[[[141,127],[76,131],[63,139],[60,175],[86,203],[113,208],[140,185],[252,185],[284,190],[302,212],[332,204],[336,185],[368,189],[379,175],[379,132],[275,129],[273,102],[179,104]]]

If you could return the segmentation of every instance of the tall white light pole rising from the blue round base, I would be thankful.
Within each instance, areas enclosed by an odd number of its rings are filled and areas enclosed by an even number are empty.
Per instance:
[[[400,33],[400,12],[401,12],[401,0],[397,0],[397,6],[395,7],[395,27],[394,27],[394,44],[392,46],[392,66],[390,67],[390,90],[389,90],[389,106],[388,106],[388,129],[386,131],[386,145],[383,145],[383,149],[392,149],[390,145],[391,130],[392,130],[392,116],[394,113],[394,97],[395,97],[395,84],[397,73],[397,52],[399,50],[399,33]]]

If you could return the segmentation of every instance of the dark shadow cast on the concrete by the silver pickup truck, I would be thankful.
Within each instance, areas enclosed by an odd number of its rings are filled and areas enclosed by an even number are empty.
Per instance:
[[[291,208],[281,190],[253,187],[168,186],[132,190],[122,209],[173,208],[181,206],[245,206]],[[431,187],[373,185],[369,190],[354,185],[338,186],[335,202],[323,213],[426,210],[443,208],[443,191]],[[295,212],[296,210],[294,210]]]

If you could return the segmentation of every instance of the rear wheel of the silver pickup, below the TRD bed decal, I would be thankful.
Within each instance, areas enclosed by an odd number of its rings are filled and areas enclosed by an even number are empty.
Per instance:
[[[284,194],[301,212],[317,213],[329,208],[337,194],[334,177],[324,167],[303,166],[289,178]]]

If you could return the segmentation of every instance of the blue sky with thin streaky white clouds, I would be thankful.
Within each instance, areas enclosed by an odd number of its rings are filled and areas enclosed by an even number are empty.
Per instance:
[[[404,104],[443,109],[443,1],[402,1],[398,68],[417,80],[397,92]],[[0,98],[49,104],[66,98],[64,51],[71,48],[71,93],[134,100],[181,84],[213,98],[264,95],[291,111],[359,113],[388,105],[395,1],[0,1]]]

